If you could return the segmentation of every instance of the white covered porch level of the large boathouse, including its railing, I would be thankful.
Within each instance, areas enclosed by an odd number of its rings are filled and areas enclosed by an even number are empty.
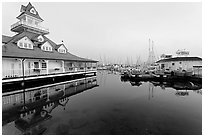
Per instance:
[[[3,80],[97,70],[96,63],[60,60],[3,59],[2,66]]]

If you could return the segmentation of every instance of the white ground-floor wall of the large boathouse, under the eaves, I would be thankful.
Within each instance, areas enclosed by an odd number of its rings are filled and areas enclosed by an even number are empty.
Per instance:
[[[39,63],[39,68],[34,68],[34,62]],[[64,71],[84,71],[85,70],[85,63],[84,62],[68,62],[65,61],[65,66],[63,69],[63,61],[60,60],[49,60],[48,64],[46,65],[47,68],[42,69],[42,62],[46,63],[46,60],[39,60],[39,59],[25,59],[24,60],[24,76],[30,75],[41,75],[48,73],[61,73]],[[86,70],[92,69],[96,63],[87,63]],[[74,67],[74,69],[70,69]],[[77,68],[75,68],[77,67]],[[81,69],[80,69],[81,68]],[[10,77],[21,77],[23,76],[22,72],[22,63],[21,59],[11,59],[11,58],[3,58],[2,59],[2,78],[10,78]]]

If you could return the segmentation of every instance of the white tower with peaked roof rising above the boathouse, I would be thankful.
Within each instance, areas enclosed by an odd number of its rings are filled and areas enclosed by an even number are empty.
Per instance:
[[[27,6],[21,5],[20,12],[21,14],[16,17],[19,21],[11,25],[11,31],[17,33],[28,31],[42,35],[49,33],[47,28],[40,26],[43,19],[30,2]]]

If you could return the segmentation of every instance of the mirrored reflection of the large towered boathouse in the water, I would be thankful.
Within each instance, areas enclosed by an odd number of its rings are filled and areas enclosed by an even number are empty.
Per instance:
[[[5,95],[2,98],[3,126],[15,122],[22,134],[43,134],[43,122],[52,117],[52,111],[65,106],[69,97],[97,87],[96,76],[30,91]]]

